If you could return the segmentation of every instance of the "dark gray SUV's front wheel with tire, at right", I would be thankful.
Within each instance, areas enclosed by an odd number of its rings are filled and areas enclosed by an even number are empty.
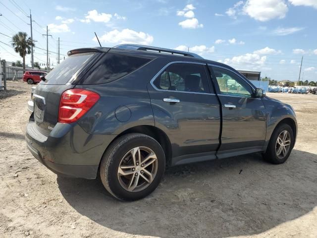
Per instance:
[[[266,152],[263,154],[264,159],[272,164],[284,163],[293,147],[294,147],[294,132],[290,125],[283,123],[275,128]]]

